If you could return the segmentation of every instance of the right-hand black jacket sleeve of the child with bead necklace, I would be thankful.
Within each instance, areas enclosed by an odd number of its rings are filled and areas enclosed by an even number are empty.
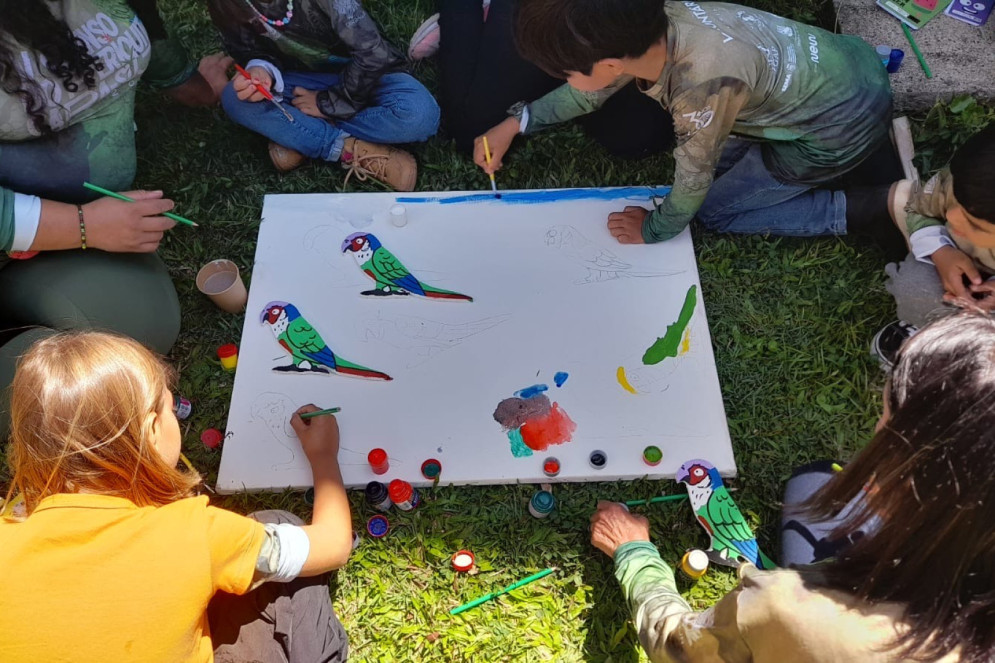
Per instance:
[[[369,105],[377,81],[404,58],[383,38],[358,0],[322,0],[319,6],[349,48],[350,60],[339,82],[318,93],[318,110],[326,117],[345,120]]]

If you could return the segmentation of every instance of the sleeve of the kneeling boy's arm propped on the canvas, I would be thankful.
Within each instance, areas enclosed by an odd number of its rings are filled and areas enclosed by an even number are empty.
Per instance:
[[[675,237],[697,214],[712,186],[722,148],[749,94],[743,81],[721,78],[702,83],[673,100],[670,112],[677,135],[674,186],[643,222],[645,242]]]

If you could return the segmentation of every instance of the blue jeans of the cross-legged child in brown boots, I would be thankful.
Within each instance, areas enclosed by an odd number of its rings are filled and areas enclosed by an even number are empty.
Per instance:
[[[290,104],[295,87],[319,91],[338,81],[338,74],[284,73],[281,105],[293,116],[293,122],[268,101],[241,101],[231,83],[221,93],[221,105],[236,124],[306,157],[325,161],[339,160],[349,136],[373,143],[414,143],[434,136],[439,128],[439,105],[424,85],[403,73],[381,76],[370,105],[348,120],[311,117]]]

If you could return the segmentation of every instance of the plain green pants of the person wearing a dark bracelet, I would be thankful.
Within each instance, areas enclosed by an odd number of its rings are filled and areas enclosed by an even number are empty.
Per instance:
[[[18,331],[22,330],[23,331]],[[51,251],[0,265],[0,440],[18,358],[56,330],[101,329],[165,354],[180,332],[180,304],[153,253]]]

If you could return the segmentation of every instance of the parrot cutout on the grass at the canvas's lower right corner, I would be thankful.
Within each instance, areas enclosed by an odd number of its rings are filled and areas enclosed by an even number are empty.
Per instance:
[[[706,551],[712,561],[732,567],[747,561],[758,569],[774,568],[774,562],[757,545],[753,531],[714,465],[707,460],[689,460],[681,465],[674,478],[687,486],[691,508],[712,538]]]

